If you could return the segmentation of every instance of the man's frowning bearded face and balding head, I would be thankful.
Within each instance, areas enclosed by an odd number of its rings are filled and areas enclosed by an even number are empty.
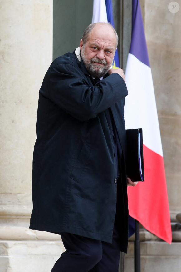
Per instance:
[[[109,25],[95,25],[86,42],[80,42],[81,57],[86,70],[100,78],[110,69],[116,50],[115,33]]]

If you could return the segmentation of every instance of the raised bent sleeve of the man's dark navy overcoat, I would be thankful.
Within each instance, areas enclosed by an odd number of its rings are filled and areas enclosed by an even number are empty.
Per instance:
[[[80,68],[61,63],[49,68],[40,93],[73,117],[85,121],[125,98],[128,91],[117,73],[90,87]]]

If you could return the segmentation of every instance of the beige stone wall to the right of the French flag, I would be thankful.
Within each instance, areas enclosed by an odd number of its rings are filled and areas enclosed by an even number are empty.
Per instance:
[[[145,0],[144,26],[164,154],[171,219],[181,210],[181,20],[162,0]],[[180,5],[181,6],[181,5]]]

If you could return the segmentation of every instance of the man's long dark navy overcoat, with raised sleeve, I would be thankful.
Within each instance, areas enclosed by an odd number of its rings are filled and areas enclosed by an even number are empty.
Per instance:
[[[53,61],[39,91],[30,229],[70,232],[111,243],[117,166],[106,109],[111,108],[125,157],[127,94],[117,73],[94,86],[75,53]],[[125,179],[123,187],[121,209],[127,214]]]

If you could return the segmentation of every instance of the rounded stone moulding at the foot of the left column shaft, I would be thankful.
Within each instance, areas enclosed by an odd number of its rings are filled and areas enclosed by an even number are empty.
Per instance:
[[[57,234],[29,229],[31,212],[31,194],[1,194],[0,239],[60,240]]]

